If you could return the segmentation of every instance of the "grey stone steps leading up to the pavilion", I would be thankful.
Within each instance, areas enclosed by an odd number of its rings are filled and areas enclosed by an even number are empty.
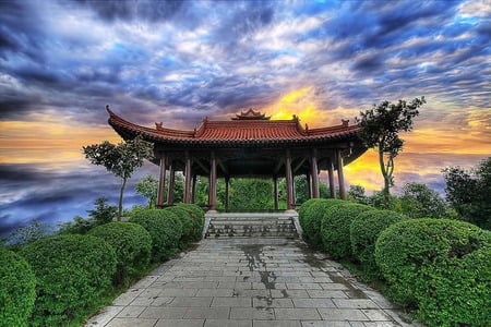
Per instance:
[[[297,239],[297,213],[218,214],[207,213],[204,238]]]

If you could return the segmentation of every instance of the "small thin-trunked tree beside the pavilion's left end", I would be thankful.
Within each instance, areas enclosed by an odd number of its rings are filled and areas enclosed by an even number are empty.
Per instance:
[[[100,144],[93,144],[83,147],[85,158],[91,164],[106,167],[107,171],[121,179],[119,191],[118,220],[121,220],[122,197],[127,181],[133,174],[136,168],[143,166],[144,159],[153,157],[152,143],[143,141],[139,135],[127,142],[115,145],[108,141]]]

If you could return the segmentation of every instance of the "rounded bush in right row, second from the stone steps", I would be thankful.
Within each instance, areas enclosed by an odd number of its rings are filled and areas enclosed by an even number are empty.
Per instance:
[[[348,258],[351,256],[349,226],[356,216],[367,210],[373,210],[373,208],[361,204],[346,202],[332,206],[325,210],[319,229],[321,230],[324,250],[328,252],[334,259]]]

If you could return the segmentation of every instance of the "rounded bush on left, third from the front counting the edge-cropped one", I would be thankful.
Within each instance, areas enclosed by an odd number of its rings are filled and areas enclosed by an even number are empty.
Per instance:
[[[151,257],[152,238],[140,225],[133,222],[109,222],[92,229],[89,234],[108,242],[118,259],[116,284],[145,267]]]

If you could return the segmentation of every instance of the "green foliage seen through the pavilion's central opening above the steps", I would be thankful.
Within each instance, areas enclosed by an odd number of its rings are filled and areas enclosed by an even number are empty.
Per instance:
[[[230,181],[230,211],[258,211],[273,207],[273,182],[263,179]]]

